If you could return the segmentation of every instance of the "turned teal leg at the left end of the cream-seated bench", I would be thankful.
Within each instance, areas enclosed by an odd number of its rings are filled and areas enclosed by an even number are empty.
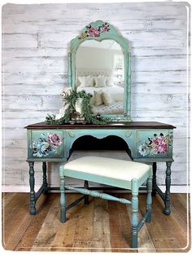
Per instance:
[[[64,188],[64,174],[63,168],[59,170],[60,176],[60,221],[61,223],[66,222],[66,206],[65,206],[65,188]]]

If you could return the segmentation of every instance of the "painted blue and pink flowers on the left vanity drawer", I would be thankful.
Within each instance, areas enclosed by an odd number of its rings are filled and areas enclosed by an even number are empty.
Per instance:
[[[47,136],[41,134],[37,141],[33,141],[33,157],[48,157],[50,152],[57,154],[56,148],[62,144],[62,140],[57,134],[49,133]]]

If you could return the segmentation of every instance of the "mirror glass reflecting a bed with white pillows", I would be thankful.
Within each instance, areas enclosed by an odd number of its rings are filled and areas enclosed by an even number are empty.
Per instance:
[[[76,90],[92,95],[92,113],[124,113],[124,54],[114,40],[85,40],[76,51]]]

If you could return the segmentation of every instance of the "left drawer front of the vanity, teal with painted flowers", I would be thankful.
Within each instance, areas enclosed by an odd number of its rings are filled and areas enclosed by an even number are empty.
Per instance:
[[[29,151],[33,158],[62,158],[62,130],[32,130]]]

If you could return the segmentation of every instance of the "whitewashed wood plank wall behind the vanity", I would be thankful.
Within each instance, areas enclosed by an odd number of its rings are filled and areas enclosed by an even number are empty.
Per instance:
[[[113,24],[132,53],[132,118],[177,126],[172,185],[187,183],[185,2],[73,3],[2,7],[3,187],[28,191],[26,130],[58,113],[69,42],[91,21]],[[36,165],[40,185],[41,166]],[[51,167],[51,166],[50,166]],[[55,166],[53,166],[55,169]],[[51,183],[58,182],[55,170]],[[164,185],[164,164],[158,168]]]

